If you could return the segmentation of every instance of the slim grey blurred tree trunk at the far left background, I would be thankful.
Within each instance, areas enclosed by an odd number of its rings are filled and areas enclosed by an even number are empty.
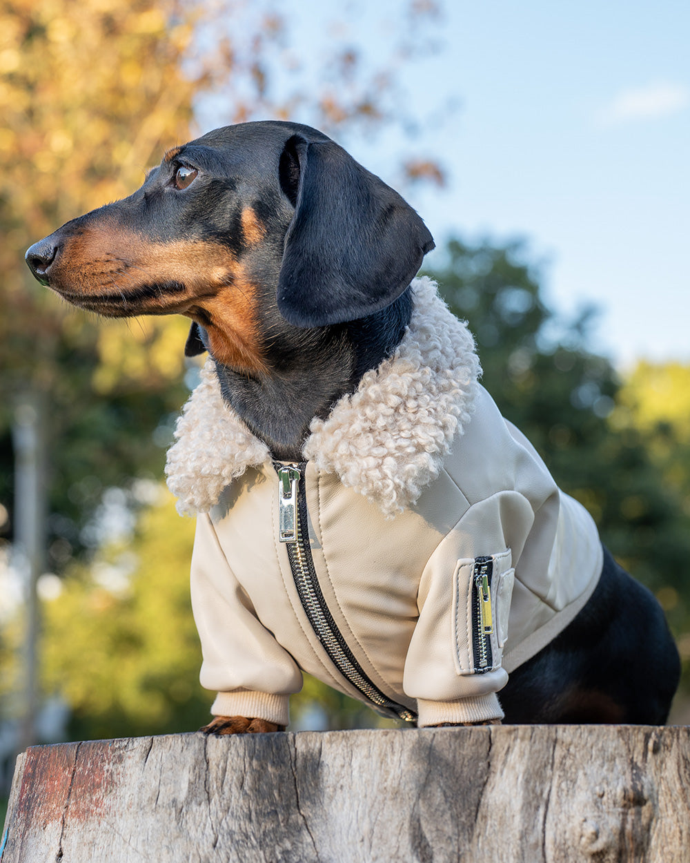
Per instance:
[[[45,395],[29,388],[16,400],[12,427],[15,450],[15,565],[22,574],[24,589],[19,751],[35,742],[35,716],[39,706],[39,610],[36,583],[46,561],[46,425]]]

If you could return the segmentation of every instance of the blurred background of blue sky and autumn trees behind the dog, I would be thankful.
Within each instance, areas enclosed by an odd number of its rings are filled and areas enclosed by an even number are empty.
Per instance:
[[[191,730],[212,700],[162,483],[188,322],[78,312],[24,250],[268,117],[425,218],[486,387],[666,609],[687,720],[689,25],[680,0],[0,0],[0,794],[32,742]],[[312,680],[294,702],[292,728],[376,722]]]

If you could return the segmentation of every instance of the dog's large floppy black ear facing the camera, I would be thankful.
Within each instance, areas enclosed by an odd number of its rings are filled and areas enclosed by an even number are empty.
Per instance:
[[[278,308],[295,326],[341,324],[389,306],[434,248],[398,192],[335,142],[293,135],[279,180],[295,214],[285,235]]]

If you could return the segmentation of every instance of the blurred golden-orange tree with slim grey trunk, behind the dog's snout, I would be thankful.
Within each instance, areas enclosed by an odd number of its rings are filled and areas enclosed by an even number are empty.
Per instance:
[[[16,463],[16,487],[3,470],[0,493],[26,583],[22,745],[31,742],[37,709],[36,578],[82,545],[78,482],[94,475],[117,482],[140,466],[141,446],[128,447],[125,434],[119,450],[107,450],[112,438],[89,445],[79,431],[87,420],[106,432],[124,431],[128,413],[139,410],[150,421],[152,410],[164,413],[168,398],[156,404],[145,379],[131,398],[119,394],[107,404],[95,395],[79,399],[91,388],[87,369],[97,363],[96,331],[88,318],[68,318],[47,291],[37,290],[22,251],[68,217],[138,185],[133,181],[141,167],[188,128],[199,82],[183,70],[191,23],[175,20],[175,12],[173,2],[154,6],[150,0],[126,7],[90,0],[78,10],[68,0],[16,0],[0,8],[0,358],[9,395],[0,407],[0,431],[13,424],[15,444],[12,453],[6,434],[0,454],[4,464],[13,456]],[[117,173],[114,154],[122,165]],[[147,333],[154,343],[169,341],[158,323]],[[154,370],[153,362],[147,366]],[[66,440],[71,445],[61,446]],[[148,454],[152,447],[145,449]],[[59,514],[46,523],[49,510]]]

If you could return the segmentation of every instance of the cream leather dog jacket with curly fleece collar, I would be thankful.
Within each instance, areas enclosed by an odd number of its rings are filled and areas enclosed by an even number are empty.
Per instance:
[[[508,673],[592,594],[593,520],[477,379],[428,279],[398,350],[274,463],[207,362],[168,485],[197,513],[191,598],[212,712],[285,725],[302,671],[419,725],[501,718]]]

